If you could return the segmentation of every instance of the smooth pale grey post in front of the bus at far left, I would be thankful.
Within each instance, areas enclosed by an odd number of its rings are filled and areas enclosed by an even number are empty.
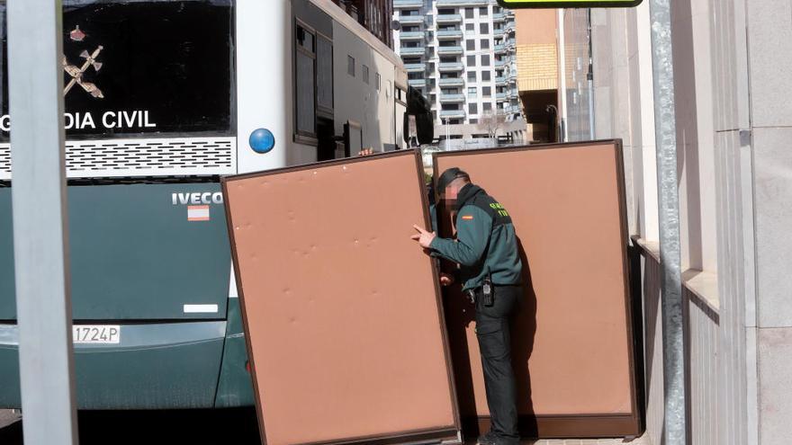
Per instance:
[[[25,445],[76,444],[60,0],[8,1],[14,271]]]

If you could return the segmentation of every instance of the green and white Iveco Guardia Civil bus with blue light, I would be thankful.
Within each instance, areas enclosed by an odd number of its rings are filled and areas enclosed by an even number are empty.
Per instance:
[[[18,408],[0,16],[0,408]],[[253,405],[220,176],[402,147],[401,59],[326,0],[64,0],[63,31],[78,407]]]

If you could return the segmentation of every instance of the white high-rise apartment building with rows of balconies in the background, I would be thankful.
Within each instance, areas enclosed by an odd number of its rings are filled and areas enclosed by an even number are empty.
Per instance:
[[[522,140],[514,13],[496,0],[393,0],[394,49],[440,139]]]

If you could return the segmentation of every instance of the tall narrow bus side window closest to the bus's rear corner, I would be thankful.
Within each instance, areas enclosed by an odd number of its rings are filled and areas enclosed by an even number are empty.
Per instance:
[[[295,138],[314,142],[316,138],[316,34],[299,22],[294,27],[294,114]]]

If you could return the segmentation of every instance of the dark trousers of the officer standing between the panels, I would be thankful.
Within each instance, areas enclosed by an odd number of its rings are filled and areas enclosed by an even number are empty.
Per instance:
[[[519,286],[495,286],[492,306],[476,296],[476,337],[482,352],[484,387],[490,407],[490,432],[499,443],[518,443],[517,387],[511,367],[509,322],[522,298]]]

